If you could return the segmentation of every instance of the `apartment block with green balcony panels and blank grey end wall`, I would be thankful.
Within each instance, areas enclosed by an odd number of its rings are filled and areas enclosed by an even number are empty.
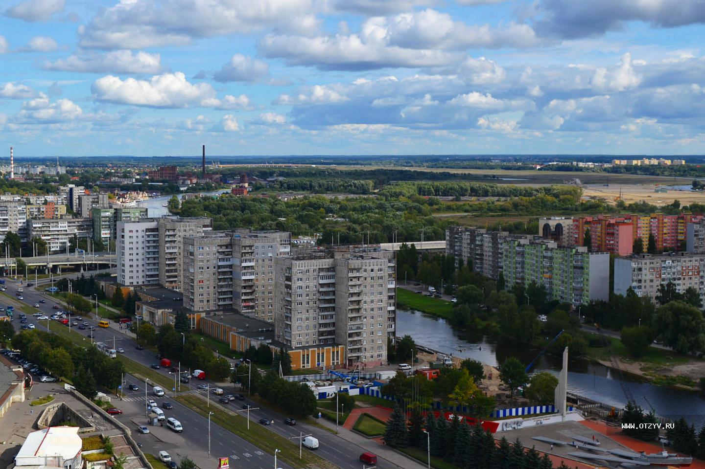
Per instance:
[[[505,239],[502,253],[502,275],[508,289],[515,284],[543,284],[550,299],[574,306],[609,298],[608,253],[521,237]]]

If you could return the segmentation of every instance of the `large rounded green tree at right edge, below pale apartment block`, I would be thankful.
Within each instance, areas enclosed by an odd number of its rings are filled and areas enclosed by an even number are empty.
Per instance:
[[[682,301],[671,301],[656,310],[654,330],[664,344],[681,354],[705,349],[705,319],[698,308]]]

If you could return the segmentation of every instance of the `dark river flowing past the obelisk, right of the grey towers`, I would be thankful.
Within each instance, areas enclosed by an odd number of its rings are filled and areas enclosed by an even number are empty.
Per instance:
[[[450,327],[446,320],[416,311],[397,310],[397,335],[409,334],[419,345],[453,354],[462,358],[473,358],[496,366],[508,356],[529,363],[540,350],[497,342],[491,337],[472,337]],[[534,365],[533,371],[548,371],[557,374],[560,359],[544,355]],[[637,404],[645,411],[654,408],[661,417],[677,420],[685,416],[697,429],[705,425],[705,399],[694,392],[639,382],[625,375],[625,384],[632,392]],[[568,364],[568,391],[605,404],[623,407],[627,404],[615,371],[598,363],[571,360]]]

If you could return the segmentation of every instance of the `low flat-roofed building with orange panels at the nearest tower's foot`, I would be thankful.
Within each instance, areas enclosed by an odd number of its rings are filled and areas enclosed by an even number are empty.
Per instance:
[[[345,358],[345,346],[335,343],[289,349],[274,340],[274,325],[239,313],[208,315],[201,320],[201,332],[239,352],[261,344],[269,346],[272,354],[285,349],[293,370],[340,368]]]

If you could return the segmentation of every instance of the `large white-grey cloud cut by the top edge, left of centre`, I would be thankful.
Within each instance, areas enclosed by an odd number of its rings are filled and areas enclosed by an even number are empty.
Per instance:
[[[303,32],[315,26],[313,0],[123,0],[79,27],[79,44],[97,49],[145,49],[189,44],[200,37],[276,26]]]

